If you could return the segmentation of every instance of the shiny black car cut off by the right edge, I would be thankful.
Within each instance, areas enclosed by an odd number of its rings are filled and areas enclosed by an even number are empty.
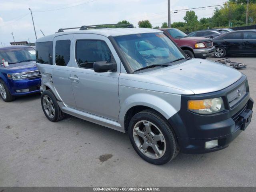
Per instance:
[[[222,58],[226,54],[256,55],[256,30],[228,32],[214,38],[213,43],[216,58]]]

